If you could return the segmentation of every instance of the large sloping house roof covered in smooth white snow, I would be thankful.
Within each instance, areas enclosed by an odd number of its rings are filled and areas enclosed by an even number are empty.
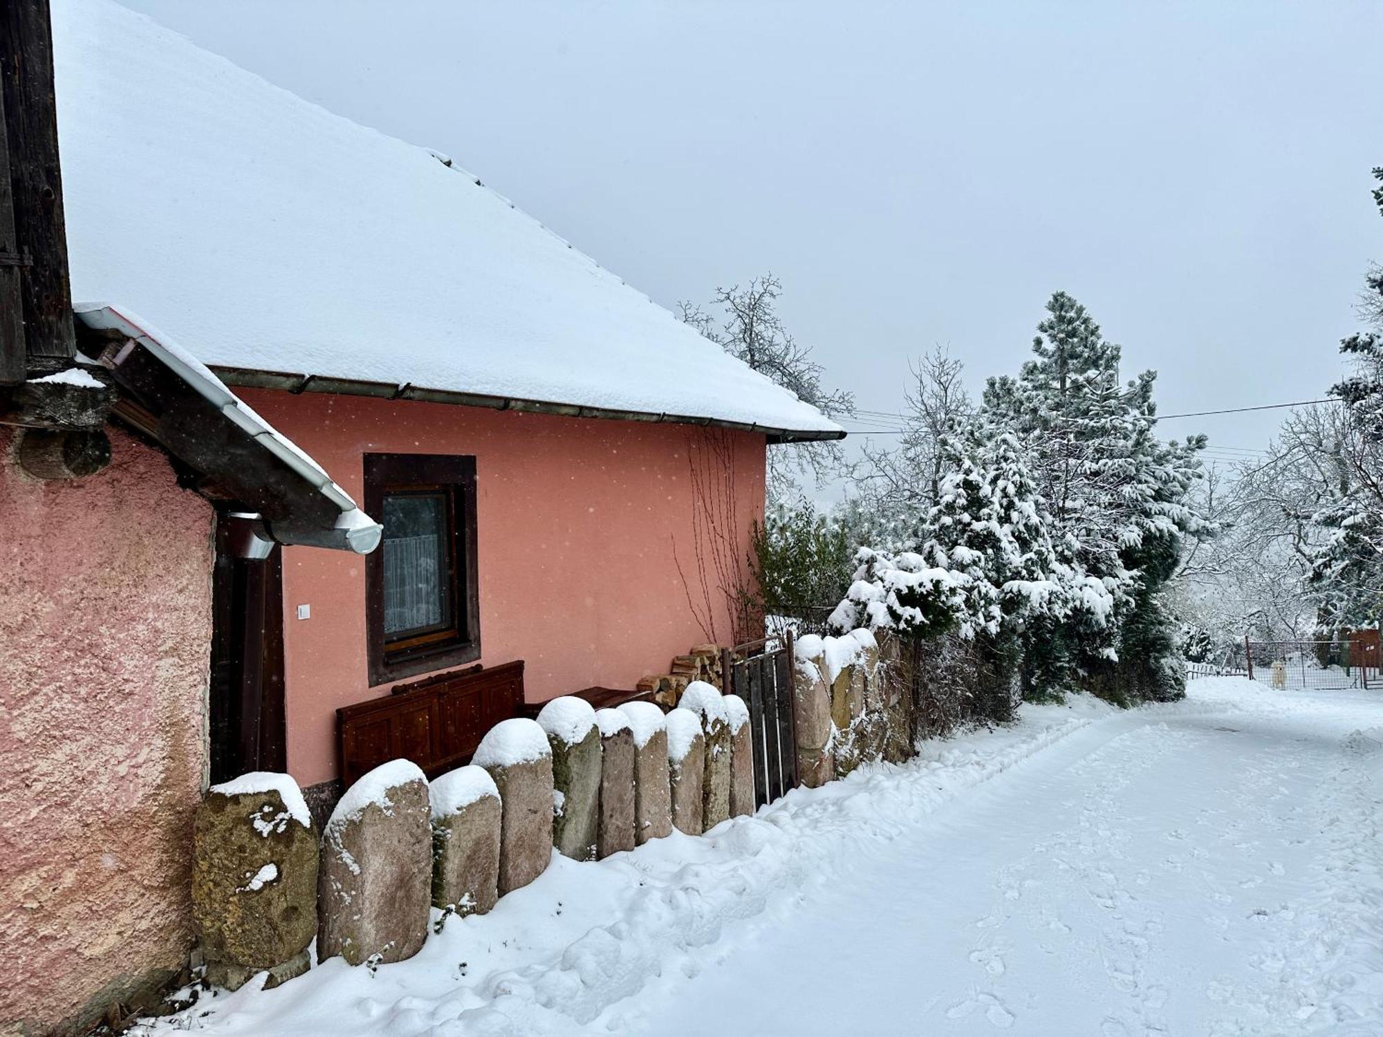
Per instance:
[[[426,148],[111,0],[54,0],[53,32],[73,297],[142,314],[231,384],[839,434]]]

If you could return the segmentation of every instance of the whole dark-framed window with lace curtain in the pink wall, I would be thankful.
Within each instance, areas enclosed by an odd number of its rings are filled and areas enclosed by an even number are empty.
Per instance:
[[[365,510],[384,525],[365,557],[369,683],[480,658],[476,459],[366,454]]]

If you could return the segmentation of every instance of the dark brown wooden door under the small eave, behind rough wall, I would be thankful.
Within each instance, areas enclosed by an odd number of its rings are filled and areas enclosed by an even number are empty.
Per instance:
[[[212,577],[212,783],[249,770],[285,770],[284,561],[230,549],[227,520],[216,523]]]

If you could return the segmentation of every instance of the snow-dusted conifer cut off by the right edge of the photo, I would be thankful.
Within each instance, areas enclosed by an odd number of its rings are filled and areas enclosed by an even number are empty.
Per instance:
[[[1383,184],[1383,167],[1373,176]],[[1373,200],[1383,213],[1383,187]],[[1383,267],[1373,267],[1365,285],[1359,312],[1372,330],[1340,343],[1355,369],[1330,390],[1344,402],[1343,434],[1326,459],[1337,498],[1312,523],[1324,534],[1311,582],[1326,636],[1383,622]]]

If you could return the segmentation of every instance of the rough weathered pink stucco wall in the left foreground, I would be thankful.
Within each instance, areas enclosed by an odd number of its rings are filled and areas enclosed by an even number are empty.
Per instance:
[[[111,433],[39,483],[0,427],[0,1034],[76,1030],[192,943],[212,509]]]

